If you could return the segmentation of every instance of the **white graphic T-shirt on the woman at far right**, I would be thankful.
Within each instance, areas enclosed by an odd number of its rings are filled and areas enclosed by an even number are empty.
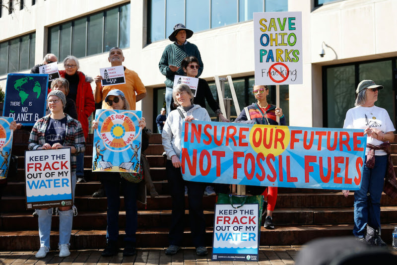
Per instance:
[[[346,129],[363,129],[370,127],[381,130],[383,133],[394,132],[396,129],[390,120],[389,113],[377,106],[372,107],[354,107],[346,112],[343,128]],[[380,145],[383,141],[367,136],[367,143]],[[367,155],[369,148],[366,149]],[[386,155],[384,150],[375,150],[375,155]]]

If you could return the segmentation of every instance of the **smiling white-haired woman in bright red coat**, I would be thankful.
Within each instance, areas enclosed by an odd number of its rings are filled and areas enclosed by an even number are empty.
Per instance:
[[[68,55],[64,59],[65,70],[60,70],[61,77],[69,82],[69,93],[67,98],[72,99],[76,103],[77,120],[81,123],[84,137],[88,136],[88,117],[95,110],[94,95],[90,82],[91,77],[85,76],[84,73],[78,71],[80,65],[76,57]],[[84,179],[84,154],[81,153],[77,157],[77,182],[85,182]]]

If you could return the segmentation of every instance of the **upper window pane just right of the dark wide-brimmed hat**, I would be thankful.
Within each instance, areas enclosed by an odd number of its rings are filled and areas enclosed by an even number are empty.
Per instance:
[[[208,29],[209,12],[209,0],[186,0],[186,27],[193,32]]]

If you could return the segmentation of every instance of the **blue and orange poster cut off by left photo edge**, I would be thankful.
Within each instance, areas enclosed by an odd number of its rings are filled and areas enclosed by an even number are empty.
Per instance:
[[[0,117],[0,183],[7,178],[13,134],[13,131],[9,129],[9,125],[13,120],[13,118],[9,117]]]

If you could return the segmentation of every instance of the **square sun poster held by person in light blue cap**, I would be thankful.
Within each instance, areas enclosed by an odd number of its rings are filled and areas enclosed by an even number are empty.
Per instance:
[[[141,111],[97,110],[92,171],[136,173],[139,169]]]

